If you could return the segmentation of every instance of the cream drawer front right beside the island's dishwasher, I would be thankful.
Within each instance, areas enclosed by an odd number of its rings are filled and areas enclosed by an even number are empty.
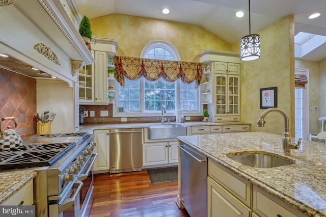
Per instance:
[[[211,159],[208,160],[208,176],[221,184],[242,203],[250,206],[251,184],[249,181],[239,176],[235,177],[235,174]]]

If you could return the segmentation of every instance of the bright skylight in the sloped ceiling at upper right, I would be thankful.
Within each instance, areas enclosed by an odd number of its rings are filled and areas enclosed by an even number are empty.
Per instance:
[[[294,57],[302,58],[326,42],[326,36],[300,32],[294,36]]]

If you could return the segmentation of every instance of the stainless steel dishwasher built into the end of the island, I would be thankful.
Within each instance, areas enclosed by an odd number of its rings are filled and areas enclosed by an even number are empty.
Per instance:
[[[192,217],[207,216],[207,157],[181,144],[181,202]]]

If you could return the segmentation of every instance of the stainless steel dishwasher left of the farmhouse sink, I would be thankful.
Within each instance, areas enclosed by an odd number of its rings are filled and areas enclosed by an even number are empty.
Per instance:
[[[110,173],[141,171],[143,166],[142,130],[110,130]]]

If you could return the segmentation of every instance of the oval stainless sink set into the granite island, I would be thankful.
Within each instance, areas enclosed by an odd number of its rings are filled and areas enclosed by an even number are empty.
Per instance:
[[[240,164],[255,168],[273,168],[295,164],[295,160],[268,152],[229,153],[227,156]]]

